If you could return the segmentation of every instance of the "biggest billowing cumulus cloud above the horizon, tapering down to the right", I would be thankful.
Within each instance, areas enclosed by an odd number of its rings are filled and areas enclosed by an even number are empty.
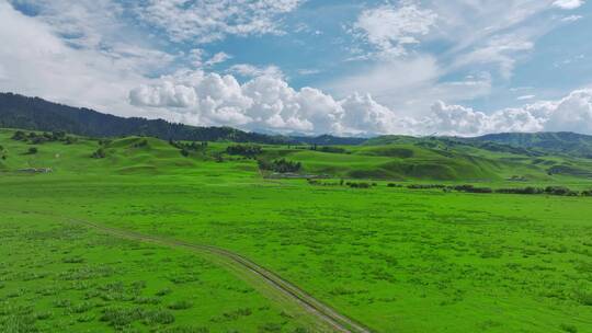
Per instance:
[[[368,94],[337,101],[318,89],[295,90],[265,74],[240,84],[230,74],[182,72],[133,89],[129,100],[138,106],[170,110],[198,125],[341,135],[413,130],[405,123],[411,119],[398,119]]]

